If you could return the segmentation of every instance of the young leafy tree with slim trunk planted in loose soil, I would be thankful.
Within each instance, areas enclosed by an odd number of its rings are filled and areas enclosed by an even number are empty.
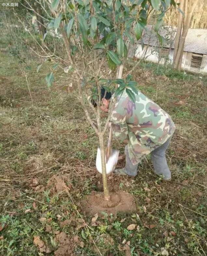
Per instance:
[[[104,197],[110,201],[107,185],[104,134],[111,118],[112,109],[118,95],[125,90],[134,101],[137,93],[136,82],[131,80],[130,71],[122,79],[123,67],[127,62],[128,47],[133,35],[141,39],[146,29],[149,13],[154,11],[160,22],[174,0],[45,0],[51,17],[48,30],[58,30],[62,35],[67,56],[62,58],[42,41],[41,52],[57,62],[52,72],[46,76],[48,86],[52,86],[57,67],[68,73],[78,88],[78,97],[88,122],[99,138],[102,163]],[[156,32],[160,41],[163,38]],[[45,37],[44,37],[45,38]],[[39,54],[39,53],[38,53]],[[40,55],[40,54],[39,54]],[[41,53],[42,56],[42,53]],[[112,72],[104,76],[101,69],[109,67]],[[114,99],[106,120],[101,118],[101,88],[114,92]],[[91,103],[96,101],[97,108]],[[96,122],[94,121],[96,119]]]

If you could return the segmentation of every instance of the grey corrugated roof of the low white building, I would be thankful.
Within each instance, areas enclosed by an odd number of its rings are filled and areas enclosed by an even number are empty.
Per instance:
[[[170,38],[170,32],[172,31],[172,37]],[[174,48],[174,39],[176,35],[177,28],[165,26],[162,30],[159,31],[159,34],[163,37],[167,37],[167,42],[164,47]],[[152,25],[147,26],[147,30],[144,31],[142,40],[144,44],[149,44],[150,46],[159,46],[159,40],[156,36],[156,33],[152,29]],[[141,41],[139,40],[138,43]],[[207,55],[207,29],[194,29],[189,28],[187,36],[185,38],[185,52],[192,52],[197,54],[206,54]]]

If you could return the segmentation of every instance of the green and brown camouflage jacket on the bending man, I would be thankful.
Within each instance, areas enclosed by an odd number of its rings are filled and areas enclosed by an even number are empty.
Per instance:
[[[126,92],[117,99],[111,125],[113,136],[128,139],[129,157],[134,165],[165,143],[175,131],[171,117],[140,91],[135,103]]]

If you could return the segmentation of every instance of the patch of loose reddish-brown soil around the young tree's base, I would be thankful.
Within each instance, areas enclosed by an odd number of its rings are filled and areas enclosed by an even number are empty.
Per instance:
[[[118,212],[134,212],[136,206],[129,193],[123,191],[111,193],[111,202],[108,202],[104,199],[103,193],[94,191],[82,202],[82,210],[89,215],[101,212],[116,214]]]

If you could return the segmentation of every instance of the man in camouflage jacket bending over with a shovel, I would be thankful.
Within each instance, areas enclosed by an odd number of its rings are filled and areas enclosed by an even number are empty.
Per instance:
[[[111,93],[101,90],[101,110],[108,112]],[[141,160],[151,153],[155,174],[171,179],[165,152],[175,131],[170,115],[138,90],[135,103],[126,92],[118,97],[111,115],[113,136],[128,139],[125,147],[126,166],[116,169],[117,174],[137,175]]]

